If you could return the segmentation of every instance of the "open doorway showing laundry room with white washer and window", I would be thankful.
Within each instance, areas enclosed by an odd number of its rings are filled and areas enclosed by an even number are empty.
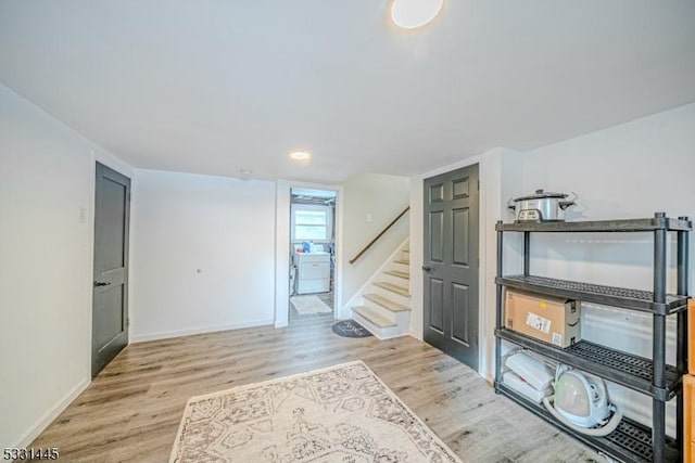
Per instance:
[[[289,322],[333,317],[336,192],[290,190]]]

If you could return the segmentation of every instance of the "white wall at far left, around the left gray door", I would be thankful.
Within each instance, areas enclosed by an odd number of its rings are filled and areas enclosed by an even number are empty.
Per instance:
[[[131,175],[0,85],[0,448],[90,381],[94,159]]]

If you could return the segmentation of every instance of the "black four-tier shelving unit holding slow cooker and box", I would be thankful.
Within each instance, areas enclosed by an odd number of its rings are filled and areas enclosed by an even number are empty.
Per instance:
[[[678,462],[683,436],[682,376],[687,371],[687,274],[688,233],[693,223],[686,217],[668,218],[664,213],[648,219],[601,220],[578,222],[502,223],[497,222],[497,285],[495,327],[495,390],[530,412],[554,424],[565,433],[598,452],[630,463]],[[523,273],[503,272],[505,232],[523,233]],[[533,275],[530,272],[531,233],[633,233],[654,235],[653,291],[606,286]],[[667,294],[667,235],[677,234],[677,292]],[[503,288],[529,291],[548,296],[577,299],[653,316],[653,358],[646,359],[616,349],[580,340],[567,348],[534,339],[503,324]],[[666,363],[666,318],[677,317],[677,364]],[[518,395],[502,382],[502,340],[513,343],[555,361],[604,377],[652,397],[652,427],[623,417],[616,430],[605,437],[591,437],[559,423],[542,406]],[[677,400],[677,436],[666,435],[666,402]]]

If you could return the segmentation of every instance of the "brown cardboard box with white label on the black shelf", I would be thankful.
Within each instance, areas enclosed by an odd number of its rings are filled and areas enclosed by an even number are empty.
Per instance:
[[[581,339],[581,304],[515,290],[505,292],[505,326],[558,347]]]

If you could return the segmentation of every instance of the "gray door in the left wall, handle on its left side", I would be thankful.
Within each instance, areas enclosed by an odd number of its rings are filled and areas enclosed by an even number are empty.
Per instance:
[[[128,345],[130,179],[97,163],[91,375]]]

